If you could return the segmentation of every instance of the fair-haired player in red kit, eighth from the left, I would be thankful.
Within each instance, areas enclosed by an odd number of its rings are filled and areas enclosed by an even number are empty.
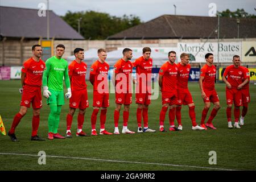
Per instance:
[[[181,53],[180,63],[177,64],[177,106],[176,106],[176,119],[178,123],[178,129],[182,130],[181,124],[181,105],[188,105],[189,117],[192,122],[192,130],[204,130],[196,123],[195,104],[191,93],[188,90],[188,78],[191,65],[189,63],[188,53]]]

